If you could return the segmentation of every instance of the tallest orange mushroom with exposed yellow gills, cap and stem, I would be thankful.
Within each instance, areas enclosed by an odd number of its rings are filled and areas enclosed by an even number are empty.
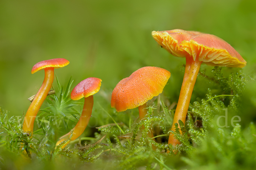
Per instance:
[[[152,31],[152,36],[172,55],[186,57],[185,74],[171,130],[175,130],[175,123],[179,120],[185,125],[186,113],[202,62],[209,66],[242,68],[246,65],[246,61],[230,44],[215,35],[174,29]],[[180,144],[173,134],[170,134],[168,143]]]

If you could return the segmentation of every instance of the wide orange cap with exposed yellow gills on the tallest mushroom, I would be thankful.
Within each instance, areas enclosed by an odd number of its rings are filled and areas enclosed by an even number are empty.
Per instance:
[[[244,67],[246,61],[226,41],[198,31],[174,29],[152,31],[154,39],[172,55],[177,57],[198,57],[209,66]]]

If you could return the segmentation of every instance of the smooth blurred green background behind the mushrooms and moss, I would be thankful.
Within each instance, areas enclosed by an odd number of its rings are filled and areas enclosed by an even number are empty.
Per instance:
[[[27,98],[44,79],[44,71],[31,74],[31,69],[52,58],[70,61],[56,70],[62,85],[71,75],[73,87],[98,77],[107,99],[138,68],[165,68],[172,76],[164,93],[177,102],[185,59],[151,37],[151,31],[175,28],[221,37],[247,61],[244,72],[254,75],[256,0],[0,0],[0,106],[12,115],[26,113]],[[212,67],[201,68],[212,76]],[[192,101],[204,98],[207,82],[198,77]]]

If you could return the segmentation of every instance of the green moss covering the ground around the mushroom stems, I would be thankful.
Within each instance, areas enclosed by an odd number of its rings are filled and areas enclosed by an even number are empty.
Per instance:
[[[83,104],[70,99],[72,78],[64,88],[56,77],[58,86],[57,89],[54,88],[56,93],[47,97],[46,108],[38,113],[39,128],[32,137],[23,132],[20,124],[22,118],[18,119],[15,116],[9,118],[9,112],[1,109],[1,166],[15,168],[14,164],[10,165],[8,162],[13,159],[19,162],[24,159],[27,162],[24,163],[23,168],[37,162],[42,169],[46,166],[42,164],[51,162],[55,165],[49,168],[55,169],[57,168],[55,166],[63,161],[67,162],[67,166],[91,168],[113,166],[116,169],[145,167],[148,170],[222,167],[244,169],[246,164],[250,169],[255,166],[256,158],[253,152],[256,148],[255,125],[250,122],[241,129],[241,125],[233,125],[231,122],[234,127],[225,128],[226,118],[223,121],[224,118],[218,120],[218,117],[223,115],[225,110],[229,112],[229,116],[239,115],[244,88],[255,80],[243,74],[241,70],[236,74],[231,73],[227,78],[223,76],[219,67],[215,67],[212,73],[214,77],[209,81],[218,85],[218,91],[222,95],[213,95],[208,88],[206,99],[198,98],[198,101],[189,106],[186,125],[184,126],[180,121],[183,135],[178,128],[172,131],[181,142],[175,147],[167,144],[168,129],[172,125],[174,110],[166,107],[164,102],[166,96],[161,96],[161,102],[157,101],[159,98],[151,100],[148,115],[142,121],[137,119],[137,112],[126,111],[128,117],[122,119],[122,116],[113,113],[113,109],[106,110],[98,103],[98,107],[94,110],[95,114],[103,112],[108,117],[108,121],[101,120],[100,124],[103,126],[98,128],[99,131],[90,137],[82,138],[82,144],[76,140],[61,149],[61,146],[68,142],[67,140],[55,148],[57,136],[60,136],[58,134],[61,131],[69,131],[71,125],[76,124],[80,116],[79,108],[81,109]],[[142,125],[145,129],[141,131]],[[147,135],[151,125],[157,132],[155,138],[157,142]],[[219,128],[220,126],[224,128]],[[152,146],[156,146],[157,150]],[[171,152],[166,153],[167,150]]]

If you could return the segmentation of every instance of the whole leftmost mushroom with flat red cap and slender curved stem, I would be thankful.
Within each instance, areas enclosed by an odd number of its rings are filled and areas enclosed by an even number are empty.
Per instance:
[[[39,89],[38,93],[35,95],[33,102],[30,104],[28,111],[23,122],[23,131],[28,133],[33,133],[35,117],[43,104],[49,90],[52,87],[52,82],[54,79],[54,69],[61,68],[69,64],[67,59],[58,58],[58,59],[49,59],[45,61],[38,62],[32,68],[31,73],[44,69],[44,82]]]

